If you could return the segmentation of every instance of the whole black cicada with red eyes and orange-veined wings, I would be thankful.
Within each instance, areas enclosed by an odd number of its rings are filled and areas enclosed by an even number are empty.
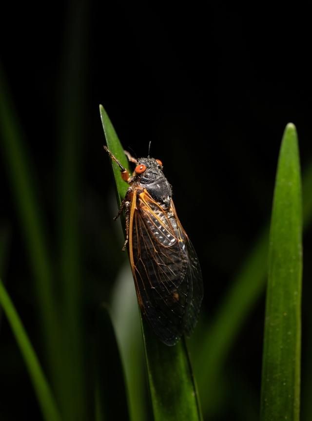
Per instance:
[[[192,333],[203,298],[195,249],[177,217],[162,162],[126,153],[136,165],[130,176],[104,148],[129,184],[117,217],[124,210],[123,249],[128,247],[139,306],[160,341],[174,345]]]

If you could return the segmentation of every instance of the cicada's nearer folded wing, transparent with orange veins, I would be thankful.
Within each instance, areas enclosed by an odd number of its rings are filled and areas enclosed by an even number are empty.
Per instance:
[[[130,260],[139,304],[160,340],[174,345],[184,333],[193,295],[176,218],[145,192],[137,198],[131,226]]]

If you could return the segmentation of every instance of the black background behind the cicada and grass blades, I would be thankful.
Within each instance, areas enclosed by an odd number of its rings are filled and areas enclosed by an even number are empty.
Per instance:
[[[79,213],[90,311],[100,301],[109,301],[122,245],[119,225],[112,222],[116,205],[109,160],[102,150],[99,103],[125,149],[145,156],[152,141],[151,155],[164,164],[179,218],[202,262],[206,318],[217,310],[269,221],[278,150],[290,121],[297,127],[303,172],[310,165],[307,12],[293,6],[251,9],[223,2],[206,7],[179,4],[169,10],[156,3],[137,7],[93,1],[88,6],[24,3],[1,12],[1,65],[33,160],[52,250],[57,247],[53,233],[61,183],[60,133],[67,118],[63,106],[71,97],[79,104],[81,141],[73,154],[80,156]],[[71,34],[76,43],[71,44]],[[73,67],[68,64],[68,45],[75,45],[82,57]],[[78,80],[74,92],[68,89],[68,73]],[[0,170],[0,223],[10,232],[4,279],[40,348],[31,272],[2,155]],[[305,316],[311,294],[311,231],[304,240]],[[255,395],[260,388],[263,317],[264,297],[244,325],[229,361],[233,384],[243,373],[244,387]],[[303,327],[305,367],[308,319]],[[0,412],[8,420],[21,414],[24,420],[34,419],[37,404],[6,321],[0,341]],[[17,395],[21,403],[12,406]],[[239,419],[231,405],[229,411],[233,420]]]

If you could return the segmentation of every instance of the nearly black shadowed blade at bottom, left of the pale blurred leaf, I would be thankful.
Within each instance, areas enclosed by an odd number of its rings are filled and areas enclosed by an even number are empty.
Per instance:
[[[129,420],[124,373],[108,310],[101,306],[97,338],[98,420]]]

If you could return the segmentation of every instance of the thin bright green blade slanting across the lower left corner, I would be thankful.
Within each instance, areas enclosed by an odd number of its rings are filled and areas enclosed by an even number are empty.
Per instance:
[[[59,411],[40,367],[37,355],[21,324],[19,315],[0,280],[0,305],[11,325],[16,342],[24,358],[30,378],[35,388],[43,417],[46,421],[60,421]],[[18,402],[17,402],[18,403]]]

